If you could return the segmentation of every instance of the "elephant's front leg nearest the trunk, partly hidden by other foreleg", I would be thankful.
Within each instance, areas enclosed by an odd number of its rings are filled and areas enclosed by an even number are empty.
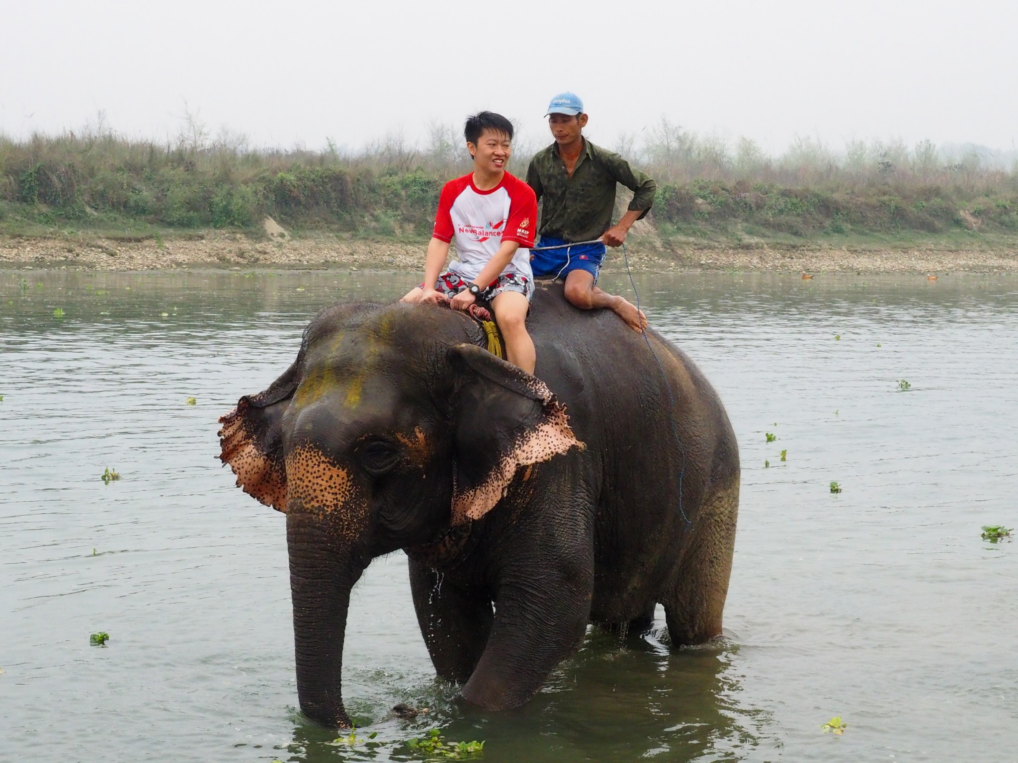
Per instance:
[[[491,600],[468,595],[413,560],[410,592],[435,671],[447,681],[466,683],[492,630]]]

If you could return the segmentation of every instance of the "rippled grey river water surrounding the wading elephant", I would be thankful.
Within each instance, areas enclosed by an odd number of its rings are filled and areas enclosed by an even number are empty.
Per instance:
[[[659,607],[642,640],[589,633],[524,709],[477,713],[435,678],[393,554],[349,617],[357,740],[303,720],[284,518],[233,487],[216,418],[318,308],[411,281],[0,273],[0,759],[419,760],[405,741],[437,727],[490,763],[1018,760],[1018,544],[980,538],[1018,527],[1003,276],[638,277],[739,438],[724,640],[672,652]]]

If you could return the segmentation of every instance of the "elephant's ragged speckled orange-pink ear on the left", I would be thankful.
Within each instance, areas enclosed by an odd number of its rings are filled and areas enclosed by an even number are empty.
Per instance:
[[[219,419],[219,460],[233,469],[237,487],[281,512],[286,511],[282,421],[299,382],[301,356],[269,389],[240,398]]]

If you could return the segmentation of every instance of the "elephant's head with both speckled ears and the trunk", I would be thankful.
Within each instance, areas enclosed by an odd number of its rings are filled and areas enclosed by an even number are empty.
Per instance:
[[[286,514],[297,691],[322,723],[349,724],[346,615],[372,559],[480,519],[521,467],[582,447],[548,388],[469,344],[472,327],[438,307],[330,308],[220,419],[237,485]]]

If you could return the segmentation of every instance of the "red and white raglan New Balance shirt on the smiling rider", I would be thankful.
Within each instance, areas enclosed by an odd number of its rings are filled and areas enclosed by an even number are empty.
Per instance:
[[[459,259],[449,271],[464,281],[480,275],[503,241],[516,241],[519,248],[500,275],[515,273],[532,281],[530,247],[536,227],[538,197],[529,185],[507,172],[494,188],[479,190],[470,173],[442,188],[432,235],[446,242],[456,239]]]

